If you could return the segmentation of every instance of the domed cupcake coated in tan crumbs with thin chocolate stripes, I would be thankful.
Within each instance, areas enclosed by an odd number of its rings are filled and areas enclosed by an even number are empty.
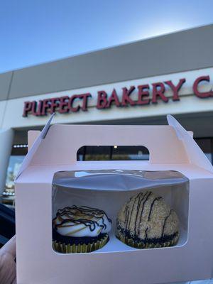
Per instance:
[[[121,207],[117,238],[136,249],[173,246],[178,242],[178,216],[153,192],[140,192]]]

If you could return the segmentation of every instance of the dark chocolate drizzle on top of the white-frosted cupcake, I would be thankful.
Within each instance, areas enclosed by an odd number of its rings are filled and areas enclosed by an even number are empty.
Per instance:
[[[90,231],[94,231],[97,226],[107,229],[107,224],[104,223],[104,215],[111,223],[111,219],[109,219],[103,210],[87,206],[77,207],[76,205],[73,205],[72,207],[65,207],[64,209],[58,210],[55,219],[53,219],[53,226],[57,231],[60,226],[66,226],[67,223],[72,222],[73,225],[67,224],[67,226],[84,224],[84,226],[89,227]],[[62,217],[65,217],[65,219]],[[98,223],[99,219],[102,220],[102,224]],[[56,224],[56,220],[60,220],[60,223]]]

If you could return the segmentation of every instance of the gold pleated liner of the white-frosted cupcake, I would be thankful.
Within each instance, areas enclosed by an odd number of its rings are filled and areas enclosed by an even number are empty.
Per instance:
[[[102,249],[108,240],[109,236],[106,235],[103,239],[92,244],[62,244],[59,241],[53,241],[53,249],[59,253],[91,253],[97,251],[97,249]]]

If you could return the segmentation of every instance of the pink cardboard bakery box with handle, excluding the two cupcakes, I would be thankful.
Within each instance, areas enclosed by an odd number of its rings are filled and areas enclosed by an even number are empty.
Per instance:
[[[43,131],[28,132],[29,151],[16,177],[18,284],[148,284],[213,277],[213,168],[192,133],[170,115],[168,126],[50,126],[51,119]],[[77,161],[82,146],[114,145],[145,146],[150,158]],[[140,183],[129,174],[136,171],[165,173],[165,179]],[[170,180],[168,171],[182,178]],[[93,172],[106,175],[96,182]],[[72,173],[75,189],[53,184],[60,173]],[[128,186],[122,179],[127,173]],[[84,186],[82,176],[88,180]],[[135,249],[116,238],[116,215],[138,187],[152,188],[177,212],[175,246]],[[59,253],[53,249],[52,220],[60,207],[76,202],[107,212],[109,241],[91,253]]]

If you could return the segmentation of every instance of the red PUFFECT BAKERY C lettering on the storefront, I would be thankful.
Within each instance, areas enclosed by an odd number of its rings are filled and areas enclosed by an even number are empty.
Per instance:
[[[198,77],[193,86],[193,92],[197,97],[207,98],[213,97],[213,90],[209,92],[200,92],[199,85],[201,82],[209,82],[209,76]],[[179,101],[180,97],[178,92],[182,85],[186,82],[185,78],[180,79],[178,84],[173,84],[172,81],[156,82],[153,84],[142,84],[138,86],[131,86],[129,88],[123,87],[121,97],[118,96],[116,89],[113,89],[111,94],[107,94],[104,90],[97,92],[97,109],[109,109],[111,105],[116,107],[135,107],[148,104],[158,104],[161,100],[165,103],[172,99],[173,101]],[[173,96],[168,98],[165,96],[166,87],[172,91]],[[131,98],[131,94],[136,94],[137,99]],[[74,94],[71,97],[54,97],[50,99],[41,99],[38,102],[24,102],[23,117],[28,114],[34,116],[45,116],[47,114],[53,114],[58,112],[65,114],[69,112],[87,111],[89,99],[92,98],[92,94]]]

